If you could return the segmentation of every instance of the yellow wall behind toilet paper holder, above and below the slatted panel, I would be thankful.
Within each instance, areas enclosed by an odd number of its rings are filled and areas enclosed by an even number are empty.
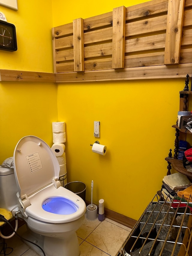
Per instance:
[[[53,26],[147,1],[54,1]],[[58,8],[59,6],[59,8]],[[58,119],[66,122],[67,181],[87,185],[86,199],[104,198],[113,211],[138,219],[167,174],[174,150],[179,91],[185,79],[58,84]],[[105,156],[91,151],[94,120],[101,122]],[[174,153],[173,153],[174,154]]]

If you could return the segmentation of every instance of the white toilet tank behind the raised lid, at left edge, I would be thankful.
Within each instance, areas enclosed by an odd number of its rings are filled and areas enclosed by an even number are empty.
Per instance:
[[[17,206],[17,186],[13,168],[0,166],[0,208],[12,211]]]

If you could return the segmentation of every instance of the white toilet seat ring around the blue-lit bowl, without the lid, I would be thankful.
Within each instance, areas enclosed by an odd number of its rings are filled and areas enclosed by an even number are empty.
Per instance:
[[[77,211],[71,214],[56,214],[47,212],[43,209],[44,201],[52,197],[64,197],[73,202]],[[41,189],[37,193],[29,197],[31,205],[26,208],[26,214],[39,221],[48,223],[66,223],[75,221],[85,213],[85,202],[81,197],[69,191],[66,188],[55,188],[53,184],[48,185],[46,188]]]

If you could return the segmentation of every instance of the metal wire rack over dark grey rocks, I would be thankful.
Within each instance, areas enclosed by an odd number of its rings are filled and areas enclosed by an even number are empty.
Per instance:
[[[190,202],[156,194],[116,256],[191,256]]]

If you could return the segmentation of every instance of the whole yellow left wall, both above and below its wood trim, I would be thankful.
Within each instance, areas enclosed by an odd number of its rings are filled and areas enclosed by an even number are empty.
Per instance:
[[[53,72],[51,0],[17,1],[18,11],[0,6],[16,26],[16,52],[0,50],[0,69]],[[52,145],[52,121],[57,121],[54,83],[0,82],[0,164],[13,156],[16,143],[36,135]]]

